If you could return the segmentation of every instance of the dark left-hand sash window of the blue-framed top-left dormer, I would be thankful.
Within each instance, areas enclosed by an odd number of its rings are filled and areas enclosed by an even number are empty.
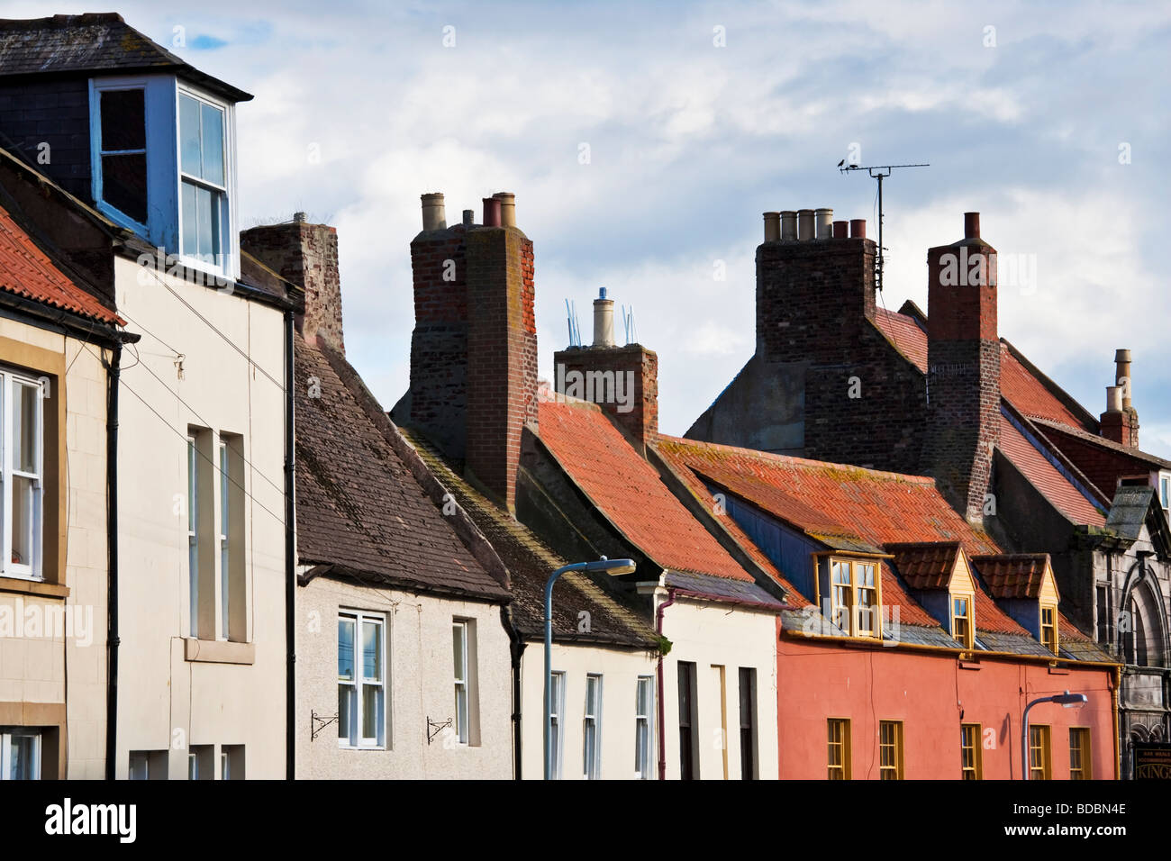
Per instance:
[[[142,87],[98,93],[100,197],[146,224],[146,98]]]

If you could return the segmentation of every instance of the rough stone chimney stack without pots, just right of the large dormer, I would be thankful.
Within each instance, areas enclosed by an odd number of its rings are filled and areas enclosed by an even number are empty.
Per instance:
[[[304,288],[304,315],[297,321],[304,340],[311,344],[324,341],[344,354],[337,231],[326,224],[309,224],[306,214],[297,212],[289,223],[244,231],[240,248]]]

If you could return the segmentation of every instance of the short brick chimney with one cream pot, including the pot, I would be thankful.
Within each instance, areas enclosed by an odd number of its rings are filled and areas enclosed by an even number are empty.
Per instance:
[[[554,389],[591,401],[645,451],[658,437],[658,355],[642,344],[614,343],[614,300],[594,300],[594,343],[553,354]]]

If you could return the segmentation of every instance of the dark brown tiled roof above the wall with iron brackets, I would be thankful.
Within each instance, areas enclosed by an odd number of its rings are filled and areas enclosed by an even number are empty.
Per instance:
[[[344,357],[296,335],[294,360],[301,563],[408,589],[507,599],[398,457],[386,436],[393,424]]]

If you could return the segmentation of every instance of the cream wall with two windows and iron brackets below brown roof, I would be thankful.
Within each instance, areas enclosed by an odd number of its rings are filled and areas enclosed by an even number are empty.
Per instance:
[[[313,713],[337,715],[337,615],[343,609],[385,617],[389,744],[383,750],[341,747],[336,723],[311,738]],[[456,711],[457,619],[475,622],[479,744],[459,745],[443,731],[429,744],[427,719],[441,724]],[[296,631],[299,779],[512,778],[512,670],[500,604],[317,578],[297,587]]]

